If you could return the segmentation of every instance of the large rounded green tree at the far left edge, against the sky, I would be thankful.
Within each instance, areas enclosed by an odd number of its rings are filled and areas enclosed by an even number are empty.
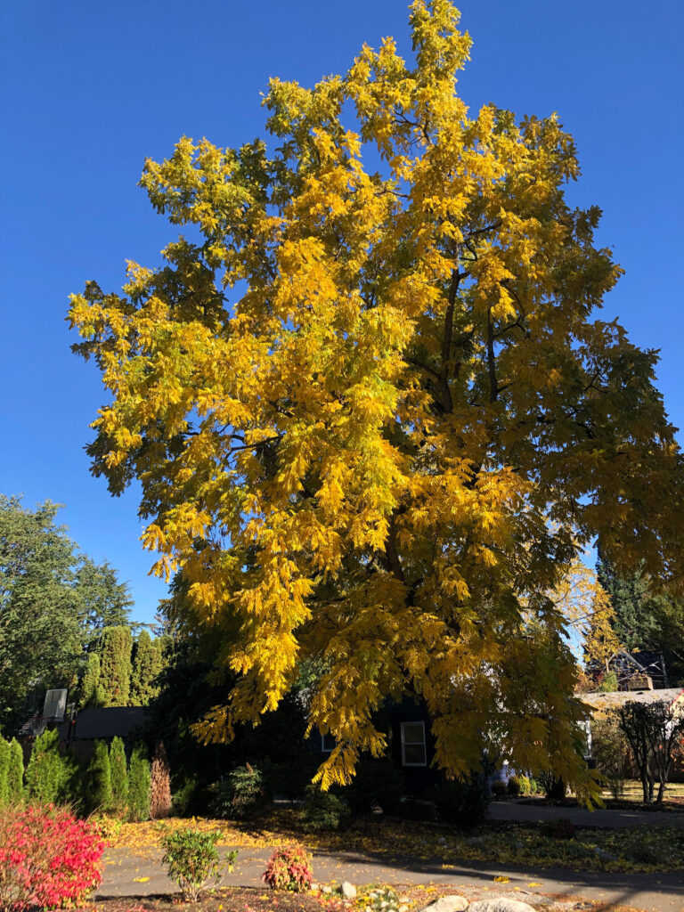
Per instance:
[[[23,720],[36,689],[76,679],[81,635],[74,609],[75,545],[55,523],[58,506],[35,510],[0,495],[0,727]]]

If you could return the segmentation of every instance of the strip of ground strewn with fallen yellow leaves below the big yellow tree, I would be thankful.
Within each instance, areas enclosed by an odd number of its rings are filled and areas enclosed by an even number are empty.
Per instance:
[[[258,848],[299,842],[323,852],[343,849],[387,862],[438,859],[444,870],[464,861],[595,871],[684,870],[684,831],[648,827],[648,822],[622,830],[577,828],[574,839],[556,839],[534,824],[486,824],[469,835],[446,824],[373,816],[353,820],[337,832],[306,834],[294,811],[278,809],[252,824],[207,818],[119,824],[109,843],[129,848],[159,845],[163,829],[177,826],[218,830],[219,845]]]

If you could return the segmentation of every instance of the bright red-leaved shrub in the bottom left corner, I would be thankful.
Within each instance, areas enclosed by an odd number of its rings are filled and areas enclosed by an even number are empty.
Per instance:
[[[98,827],[51,804],[0,811],[0,909],[78,906],[100,883]]]

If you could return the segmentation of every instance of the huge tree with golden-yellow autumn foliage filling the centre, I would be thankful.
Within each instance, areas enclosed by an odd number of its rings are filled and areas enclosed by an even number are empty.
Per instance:
[[[320,658],[324,787],[383,751],[374,710],[409,691],[449,773],[495,748],[582,788],[548,593],[596,534],[679,575],[656,356],[596,318],[620,269],[599,210],[565,201],[574,142],[469,112],[458,18],[416,0],[411,66],[386,39],[315,88],[273,79],[267,141],[147,161],[187,236],[70,310],[111,394],[93,471],[140,482],[156,570],[236,680],[200,734],[258,722]]]

